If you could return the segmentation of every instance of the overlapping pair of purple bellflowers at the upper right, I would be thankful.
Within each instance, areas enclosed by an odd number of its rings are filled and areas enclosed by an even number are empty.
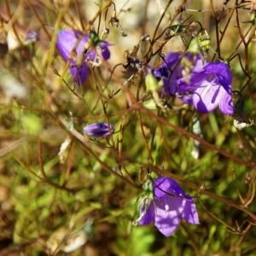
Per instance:
[[[201,113],[217,106],[224,114],[234,113],[232,73],[224,62],[208,63],[201,54],[171,52],[152,73],[163,80],[166,96],[176,95]]]

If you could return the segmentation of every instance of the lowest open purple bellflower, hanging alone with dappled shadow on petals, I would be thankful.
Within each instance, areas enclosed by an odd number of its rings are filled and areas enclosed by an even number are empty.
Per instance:
[[[177,230],[181,218],[189,224],[199,224],[193,198],[172,178],[158,177],[154,183],[148,180],[143,189],[146,194],[141,201],[140,217],[133,224],[154,222],[164,236]]]

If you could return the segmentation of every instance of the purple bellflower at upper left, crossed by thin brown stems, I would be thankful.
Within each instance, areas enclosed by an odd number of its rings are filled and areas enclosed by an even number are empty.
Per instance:
[[[108,46],[111,44],[108,42],[98,40],[98,45],[94,45],[94,47],[91,47],[90,44],[93,44],[90,34],[77,30],[61,30],[57,37],[56,47],[65,61],[70,59],[70,73],[77,84],[83,83],[87,77],[86,61],[90,61],[94,65],[100,64],[100,58],[96,52],[97,46],[101,49],[104,60],[108,60],[110,57]]]

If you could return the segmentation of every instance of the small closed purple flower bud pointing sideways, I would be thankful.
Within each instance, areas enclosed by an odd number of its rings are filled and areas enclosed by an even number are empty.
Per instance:
[[[93,137],[107,137],[112,134],[113,131],[113,125],[109,124],[108,129],[108,124],[106,123],[94,123],[84,127],[84,133]]]

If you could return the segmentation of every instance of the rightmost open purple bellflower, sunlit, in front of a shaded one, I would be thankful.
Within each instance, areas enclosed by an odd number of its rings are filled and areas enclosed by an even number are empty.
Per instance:
[[[192,71],[177,80],[181,90],[192,93],[192,103],[201,113],[211,112],[219,107],[224,114],[233,114],[232,73],[228,64],[212,62],[201,71]]]

